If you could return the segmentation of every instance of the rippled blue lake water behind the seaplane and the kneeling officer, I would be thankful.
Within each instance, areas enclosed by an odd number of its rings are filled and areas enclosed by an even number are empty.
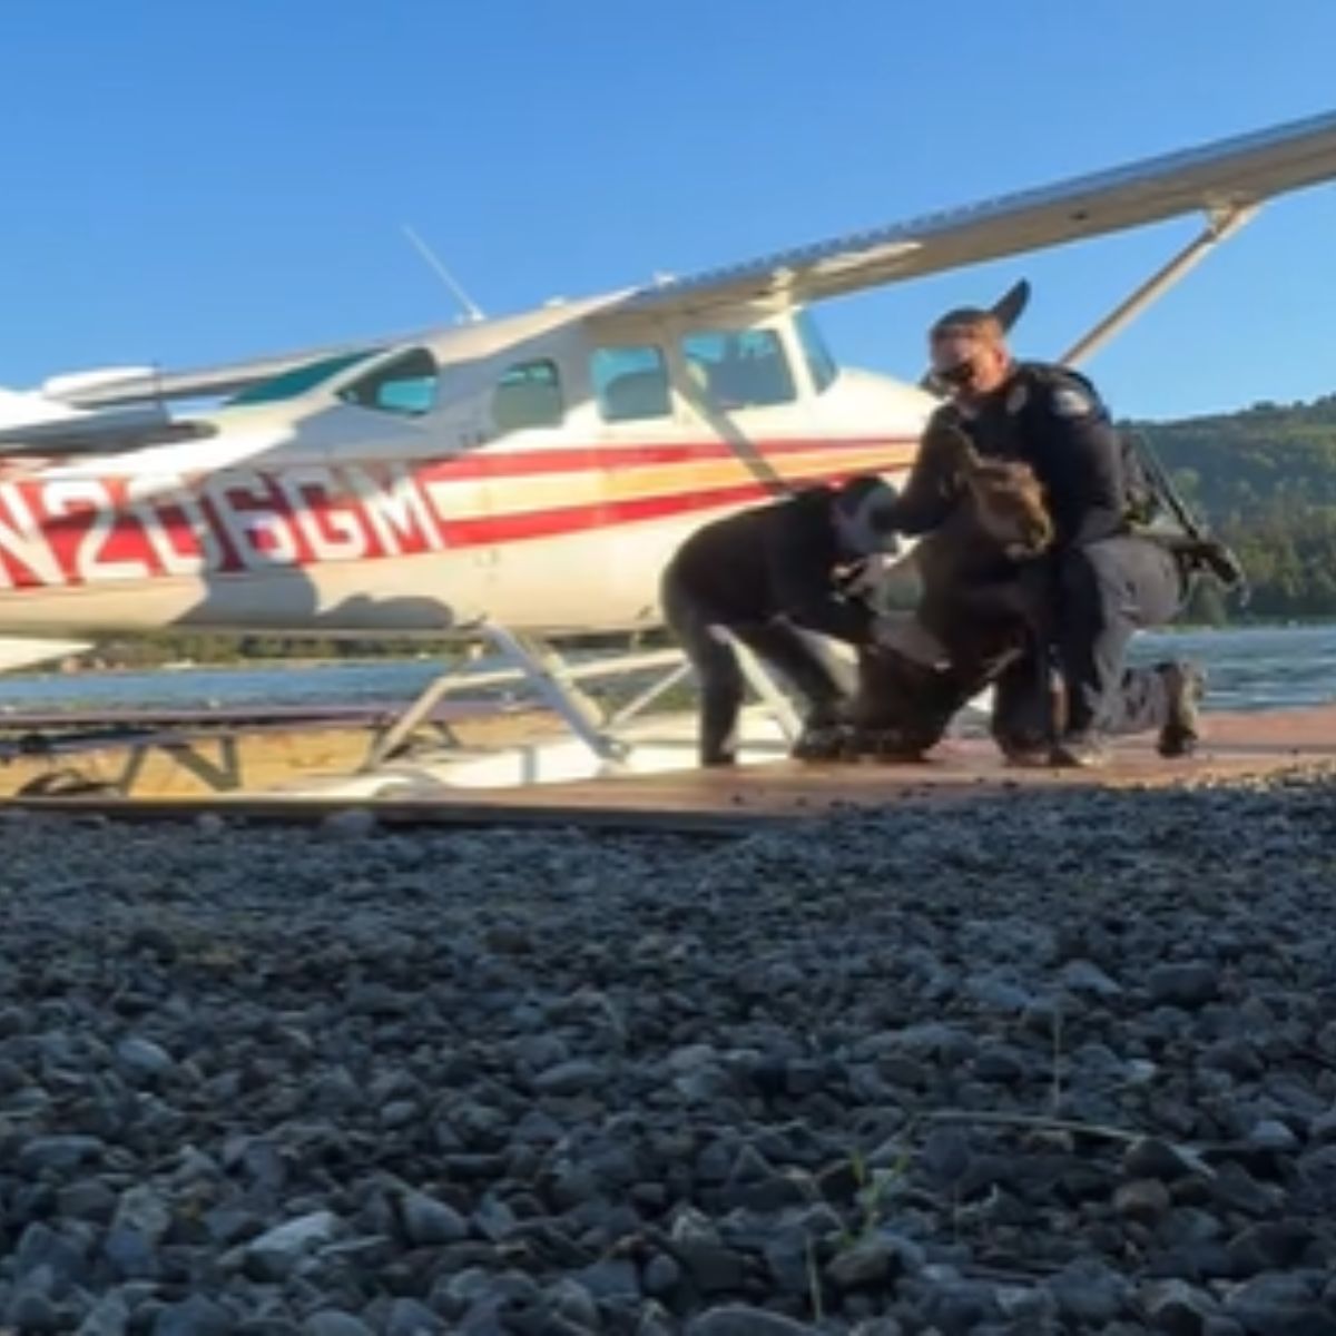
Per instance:
[[[1182,655],[1202,663],[1209,673],[1209,709],[1261,711],[1336,701],[1336,627],[1156,632],[1133,643],[1133,661],[1138,663]],[[8,673],[0,676],[0,711],[383,704],[410,700],[438,671],[429,660],[393,660]]]

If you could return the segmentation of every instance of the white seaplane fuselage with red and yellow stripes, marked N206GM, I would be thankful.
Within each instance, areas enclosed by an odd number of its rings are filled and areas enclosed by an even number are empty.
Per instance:
[[[776,480],[902,476],[935,402],[791,311],[588,315],[275,383],[200,440],[0,457],[0,633],[648,627],[689,532]]]

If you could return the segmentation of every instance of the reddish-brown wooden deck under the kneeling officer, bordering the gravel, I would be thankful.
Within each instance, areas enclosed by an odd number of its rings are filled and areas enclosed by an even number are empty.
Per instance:
[[[1169,787],[1265,776],[1336,763],[1336,705],[1206,716],[1193,758],[1165,760],[1153,739],[1114,748],[1100,770],[1021,770],[987,740],[946,743],[929,762],[888,766],[776,762],[735,771],[680,771],[520,788],[446,790],[375,800],[325,798],[16,799],[8,807],[138,819],[207,811],[247,820],[314,820],[350,807],[386,824],[544,824],[725,834],[778,822],[906,802],[941,802],[1026,790]]]

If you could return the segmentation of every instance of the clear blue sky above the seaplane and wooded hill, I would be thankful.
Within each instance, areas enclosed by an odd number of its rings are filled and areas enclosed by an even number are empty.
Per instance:
[[[1329,0],[9,0],[0,383],[449,322],[963,204],[1336,107]],[[1194,231],[824,303],[916,375],[1035,286],[1057,355]],[[1336,184],[1268,206],[1088,363],[1120,414],[1336,390]]]

